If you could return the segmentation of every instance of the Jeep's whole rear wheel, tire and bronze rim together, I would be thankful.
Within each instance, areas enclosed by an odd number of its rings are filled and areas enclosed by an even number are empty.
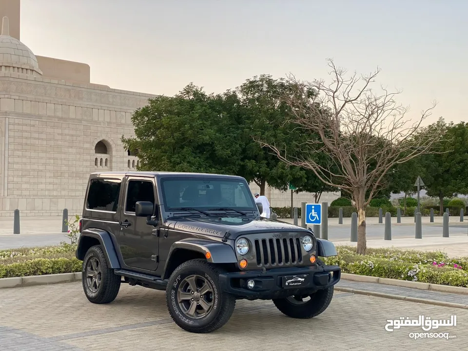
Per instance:
[[[96,304],[115,300],[120,289],[119,275],[107,266],[106,256],[99,245],[91,247],[83,259],[81,281],[84,294]]]

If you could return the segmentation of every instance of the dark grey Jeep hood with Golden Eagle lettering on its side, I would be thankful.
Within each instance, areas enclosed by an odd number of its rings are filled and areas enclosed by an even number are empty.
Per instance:
[[[224,236],[226,232],[234,239],[239,235],[253,233],[271,233],[271,232],[306,232],[309,230],[295,226],[293,224],[276,221],[269,218],[260,217],[252,219],[251,217],[201,217],[201,218],[177,218],[166,220],[166,227],[189,233],[205,234],[212,236]]]

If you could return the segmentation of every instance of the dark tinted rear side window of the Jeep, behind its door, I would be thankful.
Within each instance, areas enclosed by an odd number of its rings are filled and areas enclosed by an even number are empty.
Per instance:
[[[119,179],[92,179],[86,208],[94,211],[117,212],[120,183]]]

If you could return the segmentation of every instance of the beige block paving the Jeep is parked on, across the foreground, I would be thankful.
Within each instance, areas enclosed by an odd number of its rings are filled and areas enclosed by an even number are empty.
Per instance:
[[[388,319],[448,319],[456,338],[414,340],[420,327],[385,330]],[[284,316],[271,301],[237,301],[218,331],[182,331],[169,317],[164,292],[122,285],[108,305],[89,303],[79,282],[0,290],[0,350],[468,350],[468,311],[335,292],[321,315]]]

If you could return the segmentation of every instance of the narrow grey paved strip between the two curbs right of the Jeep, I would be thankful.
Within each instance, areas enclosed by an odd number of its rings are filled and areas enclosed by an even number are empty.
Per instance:
[[[409,297],[418,297],[428,300],[453,302],[468,305],[468,295],[449,293],[449,292],[434,292],[429,290],[419,290],[405,287],[397,287],[392,285],[363,283],[351,280],[341,279],[336,286],[342,288],[350,288],[356,290],[365,290],[370,292],[383,292],[392,295],[403,295]]]

